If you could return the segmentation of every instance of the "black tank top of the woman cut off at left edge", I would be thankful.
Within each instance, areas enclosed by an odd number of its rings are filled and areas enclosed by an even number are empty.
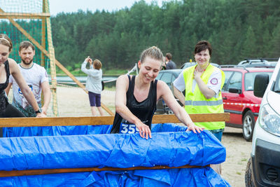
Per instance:
[[[5,71],[6,71],[6,82],[0,83],[0,113],[5,111],[6,106],[8,104],[8,98],[6,97],[5,89],[8,86],[8,79],[10,77],[10,69],[8,65],[8,60],[4,63],[5,65]]]

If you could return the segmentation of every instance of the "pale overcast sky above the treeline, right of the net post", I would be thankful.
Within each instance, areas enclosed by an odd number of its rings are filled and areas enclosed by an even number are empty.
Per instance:
[[[50,15],[57,15],[57,13],[71,13],[77,12],[78,9],[83,11],[118,11],[122,8],[130,8],[135,1],[139,0],[48,0],[50,4]],[[151,4],[152,0],[145,0]],[[162,1],[169,0],[154,0],[158,2],[158,6],[162,6]]]

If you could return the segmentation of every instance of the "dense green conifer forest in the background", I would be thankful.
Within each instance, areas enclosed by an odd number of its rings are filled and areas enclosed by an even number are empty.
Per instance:
[[[179,67],[193,59],[200,40],[210,41],[217,64],[280,56],[279,0],[184,0],[161,7],[139,1],[120,11],[59,13],[51,23],[55,57],[69,71],[88,55],[106,70],[131,69],[150,46],[172,53]]]

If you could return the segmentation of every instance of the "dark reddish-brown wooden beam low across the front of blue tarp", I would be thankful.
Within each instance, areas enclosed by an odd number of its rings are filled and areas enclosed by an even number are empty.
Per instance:
[[[60,174],[60,173],[73,173],[73,172],[101,172],[101,171],[123,171],[123,170],[136,170],[136,169],[179,169],[179,168],[194,168],[194,167],[209,167],[195,166],[195,165],[183,165],[179,167],[168,166],[154,166],[154,167],[85,167],[85,168],[62,168],[62,169],[29,169],[29,170],[12,170],[12,171],[0,171],[0,177],[8,176],[25,176],[25,175],[37,175],[37,174]]]

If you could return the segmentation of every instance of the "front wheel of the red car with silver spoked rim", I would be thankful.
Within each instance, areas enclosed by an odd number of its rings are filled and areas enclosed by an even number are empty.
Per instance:
[[[253,137],[253,128],[255,127],[255,118],[252,111],[247,111],[243,118],[243,137],[246,141],[251,141]]]

